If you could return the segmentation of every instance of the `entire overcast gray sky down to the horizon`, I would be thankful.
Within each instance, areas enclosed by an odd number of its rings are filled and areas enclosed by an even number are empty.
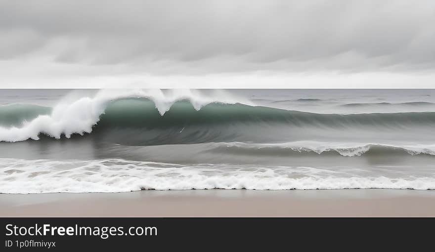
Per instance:
[[[0,0],[0,87],[435,87],[434,0]]]

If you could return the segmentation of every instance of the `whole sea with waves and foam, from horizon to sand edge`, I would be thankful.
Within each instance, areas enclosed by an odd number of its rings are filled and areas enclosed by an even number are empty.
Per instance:
[[[435,89],[0,89],[0,193],[435,189]]]

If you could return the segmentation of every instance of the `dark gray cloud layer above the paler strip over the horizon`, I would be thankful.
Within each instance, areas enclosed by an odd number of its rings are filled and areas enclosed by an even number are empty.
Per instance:
[[[0,1],[0,59],[149,72],[435,67],[433,0]]]

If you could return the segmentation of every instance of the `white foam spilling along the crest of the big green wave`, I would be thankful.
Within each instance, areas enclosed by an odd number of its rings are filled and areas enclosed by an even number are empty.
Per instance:
[[[165,114],[174,102],[189,100],[196,110],[210,103],[244,103],[250,101],[235,97],[222,90],[204,94],[198,90],[173,89],[163,92],[160,89],[151,90],[101,90],[93,97],[75,97],[65,99],[57,104],[50,115],[41,115],[21,127],[0,127],[0,141],[17,142],[27,139],[38,140],[40,133],[54,138],[62,134],[70,137],[73,133],[84,134],[92,131],[109,102],[122,98],[147,98],[152,100],[161,115]]]

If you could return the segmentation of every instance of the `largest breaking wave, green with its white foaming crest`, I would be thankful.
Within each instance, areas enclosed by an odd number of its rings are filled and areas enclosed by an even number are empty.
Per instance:
[[[13,113],[4,113],[5,110]],[[376,129],[434,124],[435,112],[315,114],[254,106],[250,101],[224,94],[204,95],[190,90],[167,93],[161,90],[112,90],[99,92],[94,97],[61,102],[52,109],[41,106],[0,108],[0,141],[38,140],[41,134],[57,139],[62,136],[70,138],[73,134],[105,130],[119,132],[123,128],[141,133],[147,130],[173,132],[177,138],[178,133],[190,130],[196,137],[225,135],[225,140],[231,140],[231,135],[243,134],[252,126],[280,125],[291,130],[294,127]],[[239,126],[239,131],[226,132],[229,126]],[[224,138],[203,139],[215,141]]]

